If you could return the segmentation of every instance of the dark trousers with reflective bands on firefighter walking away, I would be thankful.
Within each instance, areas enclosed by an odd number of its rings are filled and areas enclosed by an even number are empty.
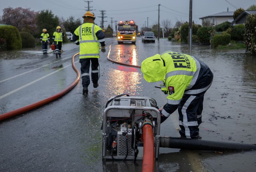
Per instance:
[[[90,61],[92,62],[92,82],[98,83],[98,80],[100,78],[100,65],[98,58],[80,59],[79,62],[81,63],[81,78],[83,87],[88,87],[88,85],[90,84]]]

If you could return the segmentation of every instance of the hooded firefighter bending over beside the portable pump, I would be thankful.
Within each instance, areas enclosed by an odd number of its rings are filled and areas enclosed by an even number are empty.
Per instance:
[[[198,139],[204,94],[213,80],[210,68],[188,54],[166,51],[144,60],[141,71],[147,82],[164,82],[160,86],[168,96],[161,123],[178,109],[181,137]]]

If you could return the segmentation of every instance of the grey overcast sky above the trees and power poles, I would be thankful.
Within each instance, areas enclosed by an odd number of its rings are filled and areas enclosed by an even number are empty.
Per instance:
[[[158,21],[158,4],[160,6],[160,22],[164,19],[171,20],[175,25],[177,20],[188,21],[189,19],[189,0],[90,0],[90,6],[96,15],[95,23],[100,25],[100,10],[106,10],[104,23],[106,27],[110,24],[111,17],[113,21],[117,20],[134,20],[140,27],[145,24],[151,26]],[[228,3],[228,2],[230,3]],[[252,4],[256,4],[255,0],[193,0],[193,20],[197,24],[201,24],[200,17],[227,11],[235,11],[236,8],[248,8]],[[233,6],[232,6],[232,5]],[[58,17],[68,18],[74,16],[81,18],[87,11],[87,3],[85,0],[0,0],[0,16],[3,15],[3,9],[7,7],[30,8],[34,11],[44,9],[52,10]],[[234,7],[235,6],[235,7]],[[174,11],[173,11],[174,10]],[[82,19],[82,18],[81,18]],[[114,23],[113,23],[114,26]]]

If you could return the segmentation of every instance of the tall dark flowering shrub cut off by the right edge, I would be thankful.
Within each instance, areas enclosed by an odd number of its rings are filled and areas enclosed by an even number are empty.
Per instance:
[[[256,15],[248,15],[245,21],[246,52],[256,55]]]

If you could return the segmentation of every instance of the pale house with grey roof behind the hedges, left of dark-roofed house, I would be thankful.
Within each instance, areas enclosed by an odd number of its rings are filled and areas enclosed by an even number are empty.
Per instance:
[[[202,19],[202,25],[215,26],[225,21],[229,21],[231,23],[233,21],[233,14],[234,11],[220,12],[199,19]]]

